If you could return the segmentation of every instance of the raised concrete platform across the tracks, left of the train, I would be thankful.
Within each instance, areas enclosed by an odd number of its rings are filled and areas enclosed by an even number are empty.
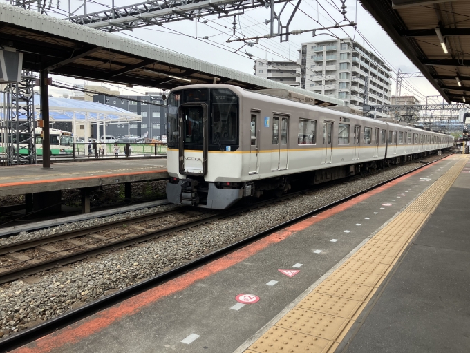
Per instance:
[[[61,192],[82,190],[82,211],[90,211],[90,191],[104,185],[125,184],[130,199],[131,182],[169,178],[166,159],[116,159],[97,162],[2,166],[0,196],[26,195],[26,211],[60,213]]]

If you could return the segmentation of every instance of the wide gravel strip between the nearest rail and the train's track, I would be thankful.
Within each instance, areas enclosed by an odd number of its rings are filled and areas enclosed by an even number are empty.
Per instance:
[[[435,156],[429,158],[435,159]],[[381,173],[359,180],[322,187],[285,202],[276,202],[225,220],[180,231],[174,236],[149,240],[140,245],[102,254],[95,259],[79,261],[63,269],[53,269],[35,277],[1,285],[0,337],[39,324],[91,300],[182,265],[276,223],[317,209],[416,167],[417,164],[410,163],[384,169]],[[91,225],[93,223],[89,222],[100,220],[86,222],[86,225]],[[68,227],[71,225],[44,230],[41,235],[50,231],[64,231]]]

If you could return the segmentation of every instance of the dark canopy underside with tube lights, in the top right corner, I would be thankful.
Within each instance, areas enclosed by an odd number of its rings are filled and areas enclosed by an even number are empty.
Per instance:
[[[464,102],[470,92],[470,1],[361,3],[448,103]]]

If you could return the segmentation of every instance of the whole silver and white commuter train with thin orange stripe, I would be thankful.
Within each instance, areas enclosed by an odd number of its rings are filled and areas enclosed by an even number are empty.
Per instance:
[[[225,84],[173,88],[167,198],[226,209],[450,149],[453,137]]]

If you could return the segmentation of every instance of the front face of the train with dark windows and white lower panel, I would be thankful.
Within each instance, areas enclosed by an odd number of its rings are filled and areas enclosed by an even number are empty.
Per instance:
[[[171,90],[167,102],[169,202],[226,209],[243,197],[243,184],[238,182],[243,153],[241,99],[236,90],[220,84]]]

